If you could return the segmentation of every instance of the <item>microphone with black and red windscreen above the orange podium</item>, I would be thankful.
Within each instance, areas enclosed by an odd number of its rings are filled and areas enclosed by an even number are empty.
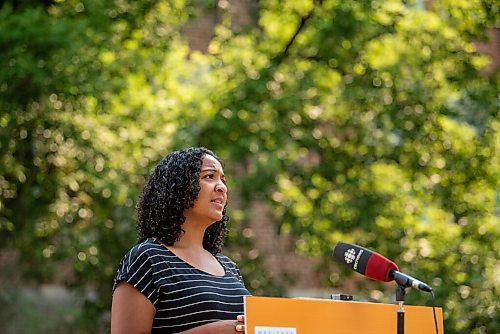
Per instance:
[[[339,242],[333,249],[333,258],[351,270],[376,281],[394,280],[404,287],[432,291],[432,288],[424,282],[400,272],[399,267],[391,260],[364,247]]]

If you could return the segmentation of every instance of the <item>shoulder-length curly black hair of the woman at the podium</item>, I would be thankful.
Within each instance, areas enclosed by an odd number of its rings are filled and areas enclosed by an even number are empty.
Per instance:
[[[199,176],[202,159],[211,155],[222,161],[211,150],[190,147],[175,151],[163,158],[149,176],[137,203],[137,239],[156,238],[172,246],[184,233],[184,210],[192,208],[200,192]],[[226,207],[222,219],[210,225],[203,237],[203,247],[212,254],[221,251],[227,235],[229,217]]]

